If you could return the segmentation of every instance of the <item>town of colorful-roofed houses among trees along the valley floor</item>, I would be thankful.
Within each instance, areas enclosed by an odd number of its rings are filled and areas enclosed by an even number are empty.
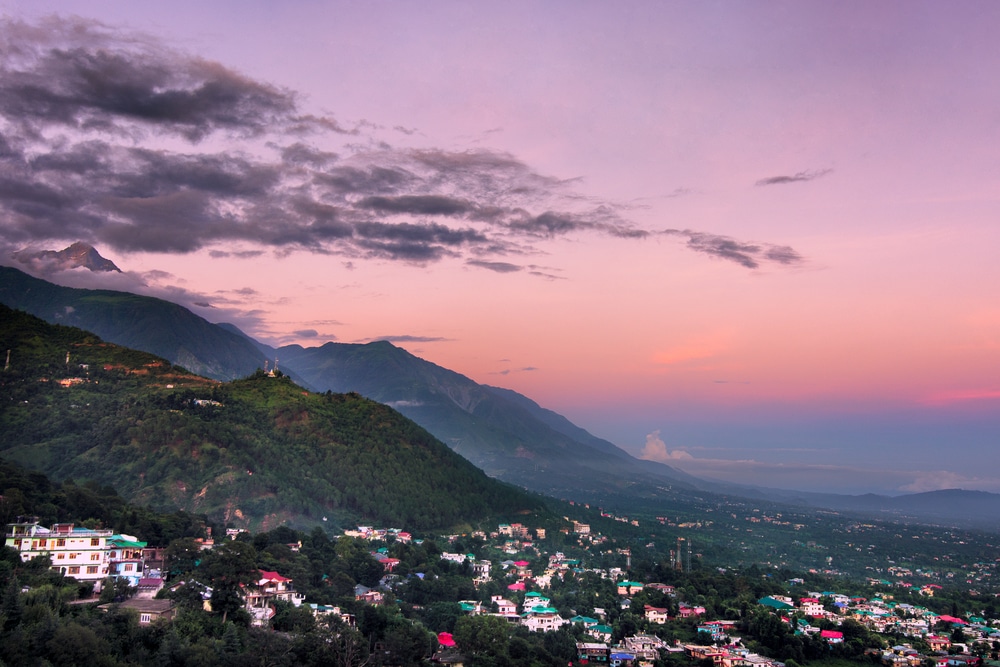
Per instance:
[[[569,517],[433,536],[358,526],[337,536],[229,529],[213,539],[206,527],[169,544],[142,538],[22,517],[7,526],[7,552],[49,579],[5,593],[4,607],[20,601],[23,624],[55,577],[77,584],[68,618],[84,607],[132,614],[158,636],[197,623],[201,636],[182,644],[213,632],[242,636],[243,647],[271,636],[289,655],[296,642],[325,637],[335,664],[916,667],[1000,657],[996,595],[949,595],[907,581],[914,573],[904,568],[838,581],[708,567],[680,536],[669,558],[639,566],[632,547]],[[0,573],[8,583],[30,578],[16,567]],[[4,623],[20,627],[9,613]]]

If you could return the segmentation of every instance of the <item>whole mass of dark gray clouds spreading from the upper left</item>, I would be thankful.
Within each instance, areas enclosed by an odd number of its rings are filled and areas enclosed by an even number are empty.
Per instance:
[[[581,233],[667,233],[748,268],[801,261],[784,246],[641,229],[627,208],[509,153],[397,148],[378,129],[347,130],[304,111],[293,91],[149,35],[80,18],[0,19],[0,235],[11,244],[456,257],[553,278],[507,260]]]

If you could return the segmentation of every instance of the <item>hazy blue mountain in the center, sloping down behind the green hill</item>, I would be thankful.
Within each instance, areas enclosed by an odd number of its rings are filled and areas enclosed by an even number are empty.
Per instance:
[[[697,487],[696,478],[639,461],[516,392],[479,385],[385,341],[289,345],[275,355],[316,390],[356,391],[391,405],[490,476],[533,491],[598,502]]]

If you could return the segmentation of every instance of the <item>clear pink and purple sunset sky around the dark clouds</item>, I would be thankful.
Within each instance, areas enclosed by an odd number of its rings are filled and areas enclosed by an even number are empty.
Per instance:
[[[337,164],[506,156],[548,199],[514,183],[475,201],[613,216],[491,231],[503,252],[425,261],[249,236],[160,252],[95,234],[129,272],[121,288],[180,288],[272,343],[413,337],[397,344],[694,474],[1000,491],[984,472],[1000,463],[996,4],[149,4],[2,3],[5,44],[29,38],[12,21],[44,31],[51,13],[114,26],[111,40],[155,35],[171,58],[221,63],[353,130],[303,139]],[[292,142],[271,128],[46,131],[261,160]],[[477,187],[427,192],[473,201]],[[77,240],[24,229],[5,236]],[[699,238],[794,255],[751,268]]]

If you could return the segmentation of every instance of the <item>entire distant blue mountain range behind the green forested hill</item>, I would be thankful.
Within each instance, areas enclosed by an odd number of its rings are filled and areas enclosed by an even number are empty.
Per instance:
[[[766,489],[702,480],[640,461],[508,389],[480,385],[388,342],[278,349],[166,301],[59,287],[0,267],[0,302],[49,322],[153,352],[216,379],[245,377],[265,358],[314,391],[357,392],[427,429],[487,474],[557,498],[668,506],[716,494],[798,507],[1000,529],[1000,495],[949,491],[892,498]]]

